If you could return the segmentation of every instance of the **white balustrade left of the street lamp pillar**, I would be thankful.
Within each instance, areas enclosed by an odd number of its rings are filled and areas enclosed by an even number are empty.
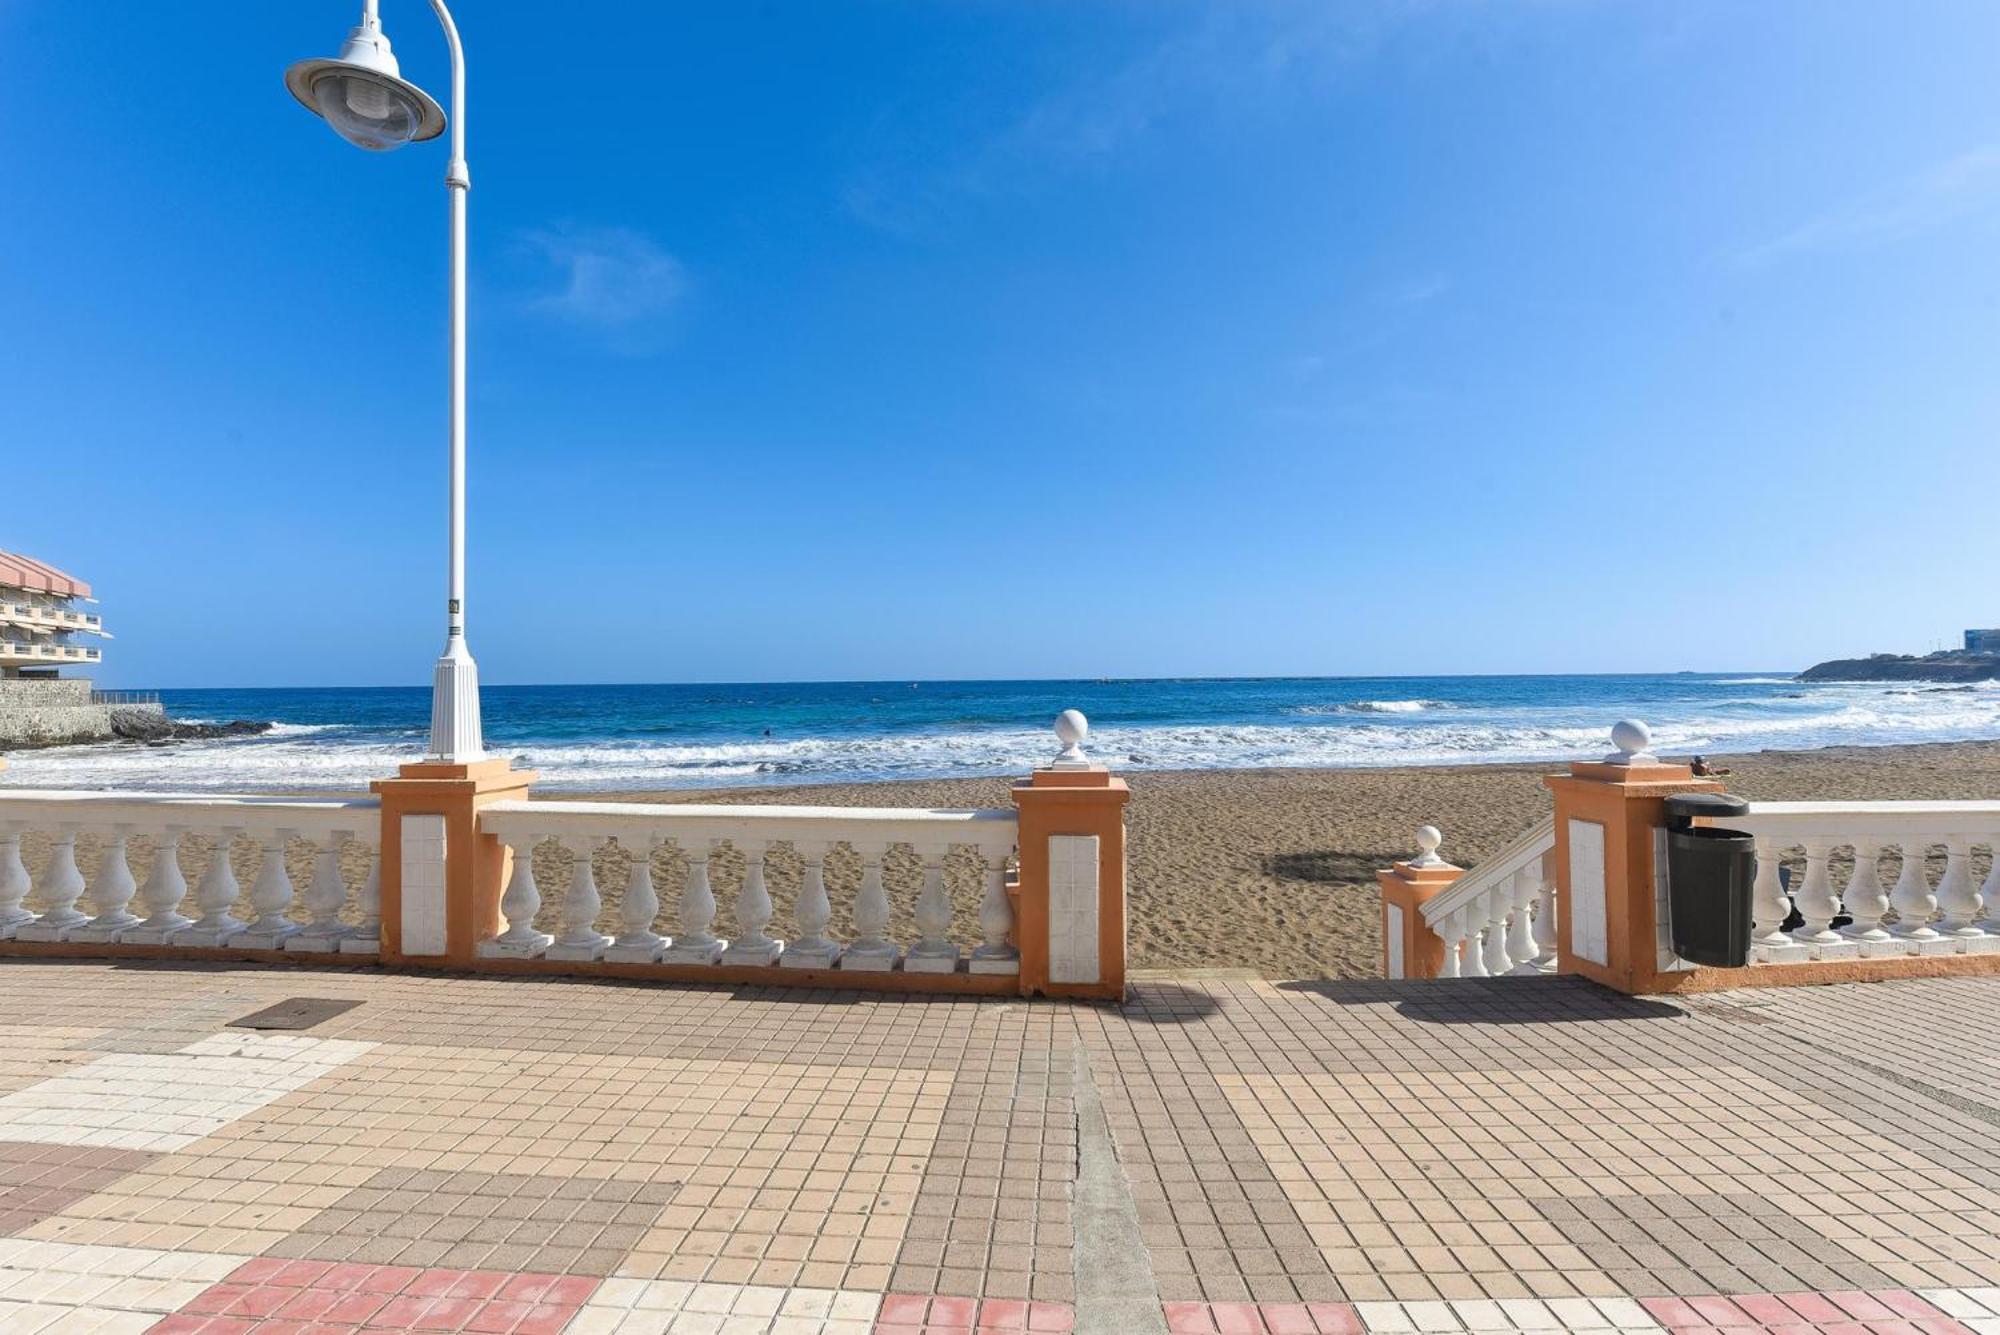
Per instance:
[[[200,835],[212,853],[194,887],[196,917],[182,911],[188,879],[180,867],[186,835]],[[22,901],[28,869],[22,839],[44,835],[48,855],[38,887],[42,913]],[[242,885],[230,861],[238,835],[262,847],[250,885],[252,921],[240,921]],[[84,883],[78,837],[98,843],[98,865]],[[144,883],[132,873],[132,841],[152,845]],[[308,841],[314,875],[300,895],[286,869],[286,849]],[[194,793],[118,793],[20,789],[0,793],[0,939],[82,941],[96,945],[178,945],[224,949],[304,949],[374,953],[380,921],[376,847],[380,811],[374,799],[294,801],[284,797],[214,797]],[[342,849],[370,861],[358,915],[340,921],[348,903]],[[84,899],[90,913],[76,905]],[[134,901],[140,915],[134,911]],[[304,921],[302,921],[304,919]]]

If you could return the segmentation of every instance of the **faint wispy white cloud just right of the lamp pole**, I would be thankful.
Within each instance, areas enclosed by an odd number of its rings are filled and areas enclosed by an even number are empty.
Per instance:
[[[550,280],[526,310],[620,344],[656,332],[688,292],[680,260],[632,228],[558,226],[520,244]]]

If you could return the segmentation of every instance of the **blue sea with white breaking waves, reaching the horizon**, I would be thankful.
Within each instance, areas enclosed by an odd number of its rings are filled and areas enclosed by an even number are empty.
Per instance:
[[[162,691],[176,717],[262,737],[20,751],[0,783],[330,789],[424,747],[428,689]],[[1122,769],[1412,765],[1596,755],[1620,717],[1656,749],[1752,751],[2000,737],[2000,689],[1802,683],[1780,671],[1518,677],[490,685],[486,741],[552,789],[1018,775],[1090,715]]]

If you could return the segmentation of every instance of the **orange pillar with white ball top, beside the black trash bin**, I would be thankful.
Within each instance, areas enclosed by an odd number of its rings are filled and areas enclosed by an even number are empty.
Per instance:
[[[1556,797],[1556,969],[1656,993],[1686,967],[1666,941],[1666,799],[1722,783],[1646,753],[1640,723],[1612,739],[1618,755],[1542,779]]]

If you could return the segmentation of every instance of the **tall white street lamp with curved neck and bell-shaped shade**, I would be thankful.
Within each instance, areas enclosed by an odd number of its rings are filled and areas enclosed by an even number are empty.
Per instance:
[[[308,112],[320,116],[340,138],[372,152],[444,134],[444,110],[416,84],[402,78],[382,20],[378,0],[362,0],[362,22],[332,60],[300,60],[284,72]],[[430,755],[440,761],[474,761],[486,755],[480,743],[480,675],[466,648],[466,54],[458,44],[458,24],[444,0],[430,0],[452,48],[452,160],[444,188],[452,200],[452,482],[450,560],[446,580],[444,654],[430,681]]]

